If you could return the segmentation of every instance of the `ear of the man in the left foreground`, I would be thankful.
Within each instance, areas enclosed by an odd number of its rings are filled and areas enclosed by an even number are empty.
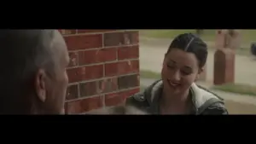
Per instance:
[[[46,100],[46,73],[43,69],[39,69],[35,78],[35,88],[39,101],[44,102]]]

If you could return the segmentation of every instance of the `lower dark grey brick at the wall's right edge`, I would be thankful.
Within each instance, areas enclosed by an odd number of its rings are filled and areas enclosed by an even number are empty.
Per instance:
[[[118,78],[119,89],[129,89],[139,86],[139,77],[137,74],[122,76]]]

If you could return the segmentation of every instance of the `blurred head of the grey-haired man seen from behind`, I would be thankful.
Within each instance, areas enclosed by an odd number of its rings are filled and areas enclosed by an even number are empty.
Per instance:
[[[1,30],[2,114],[58,114],[67,91],[66,43],[55,30]]]

